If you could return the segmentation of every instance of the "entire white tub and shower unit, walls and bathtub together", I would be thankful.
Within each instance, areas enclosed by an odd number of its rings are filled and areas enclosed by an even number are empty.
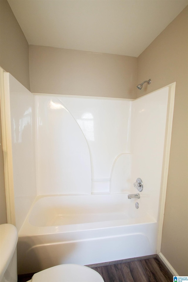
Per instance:
[[[4,85],[18,273],[156,254],[170,86],[126,100]]]

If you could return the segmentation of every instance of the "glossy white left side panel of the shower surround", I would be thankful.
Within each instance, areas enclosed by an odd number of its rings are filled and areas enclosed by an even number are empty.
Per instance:
[[[9,85],[14,202],[16,227],[20,229],[37,195],[34,97],[9,73],[4,73],[4,82]]]

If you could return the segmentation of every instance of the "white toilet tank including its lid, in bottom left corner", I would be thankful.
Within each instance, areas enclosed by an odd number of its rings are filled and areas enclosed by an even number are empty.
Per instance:
[[[0,282],[17,282],[18,232],[12,224],[0,224]]]

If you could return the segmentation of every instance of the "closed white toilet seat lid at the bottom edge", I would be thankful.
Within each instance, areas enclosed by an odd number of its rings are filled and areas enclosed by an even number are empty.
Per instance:
[[[104,282],[100,274],[87,266],[61,264],[35,273],[32,282]]]

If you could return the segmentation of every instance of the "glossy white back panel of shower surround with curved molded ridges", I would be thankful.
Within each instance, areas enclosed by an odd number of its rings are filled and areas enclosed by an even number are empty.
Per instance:
[[[131,101],[52,95],[35,99],[39,194],[128,191]],[[115,183],[117,177],[111,182],[113,170],[122,185]]]

